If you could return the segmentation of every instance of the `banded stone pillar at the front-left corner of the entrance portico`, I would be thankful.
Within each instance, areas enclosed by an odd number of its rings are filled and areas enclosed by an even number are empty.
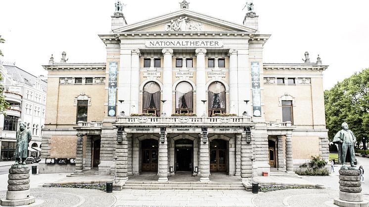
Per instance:
[[[123,132],[123,141],[117,142],[115,148],[115,155],[118,157],[116,161],[117,180],[128,180],[128,137],[131,138],[132,134],[126,134],[126,132]]]

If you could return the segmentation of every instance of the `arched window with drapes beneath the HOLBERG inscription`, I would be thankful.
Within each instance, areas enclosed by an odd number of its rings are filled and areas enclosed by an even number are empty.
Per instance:
[[[193,113],[193,88],[188,82],[176,87],[176,113]]]

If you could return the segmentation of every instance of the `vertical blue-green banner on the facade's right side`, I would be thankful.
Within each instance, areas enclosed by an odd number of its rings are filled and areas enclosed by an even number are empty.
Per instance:
[[[260,63],[251,62],[252,114],[261,117]]]

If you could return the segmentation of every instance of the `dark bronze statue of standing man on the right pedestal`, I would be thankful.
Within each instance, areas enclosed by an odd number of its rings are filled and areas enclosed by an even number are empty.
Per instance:
[[[354,133],[349,130],[346,122],[342,123],[342,130],[338,131],[333,138],[333,143],[338,144],[338,156],[341,158],[342,166],[346,166],[346,156],[349,154],[349,161],[351,166],[355,167],[355,151],[356,137]]]

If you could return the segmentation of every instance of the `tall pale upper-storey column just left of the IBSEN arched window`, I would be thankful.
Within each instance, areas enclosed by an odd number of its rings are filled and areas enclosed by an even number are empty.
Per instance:
[[[131,113],[130,114],[138,114],[139,56],[140,56],[139,49],[132,50],[131,52]]]

